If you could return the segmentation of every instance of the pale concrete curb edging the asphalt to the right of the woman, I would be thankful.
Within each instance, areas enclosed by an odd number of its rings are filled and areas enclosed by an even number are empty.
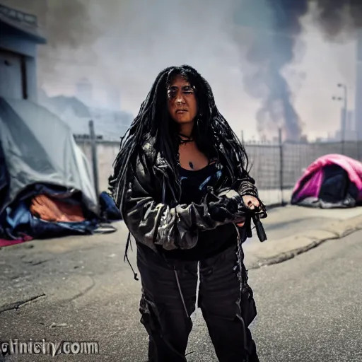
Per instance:
[[[323,229],[310,230],[280,240],[272,240],[270,244],[266,242],[262,247],[255,250],[254,254],[259,261],[250,265],[249,269],[259,269],[267,265],[285,262],[303,254],[303,252],[314,249],[327,240],[341,239],[358,230],[362,230],[362,215],[346,220],[332,221]]]

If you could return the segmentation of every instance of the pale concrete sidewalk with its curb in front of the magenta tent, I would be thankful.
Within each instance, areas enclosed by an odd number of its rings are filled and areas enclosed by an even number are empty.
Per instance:
[[[313,209],[288,205],[271,209],[263,225],[268,240],[260,243],[254,235],[244,244],[248,269],[283,262],[327,240],[362,229],[362,207]]]

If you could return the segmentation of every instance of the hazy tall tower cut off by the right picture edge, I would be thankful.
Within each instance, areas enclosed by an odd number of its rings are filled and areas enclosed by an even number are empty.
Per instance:
[[[357,33],[356,57],[356,100],[355,100],[355,130],[357,139],[362,140],[362,29]]]

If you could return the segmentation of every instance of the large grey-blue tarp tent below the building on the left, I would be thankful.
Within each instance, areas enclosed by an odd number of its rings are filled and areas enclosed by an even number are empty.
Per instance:
[[[19,223],[28,235],[33,228],[35,235],[77,228],[76,223],[42,223],[30,215],[29,203],[40,194],[81,206],[87,221],[98,218],[91,167],[69,126],[28,100],[0,98],[0,238]],[[78,231],[84,231],[85,224],[78,224]]]

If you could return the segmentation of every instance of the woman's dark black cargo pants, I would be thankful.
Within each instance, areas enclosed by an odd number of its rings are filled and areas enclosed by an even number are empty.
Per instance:
[[[238,279],[237,247],[199,262],[199,303],[220,362],[257,362],[255,342],[247,327],[255,318],[255,302],[243,266]],[[241,252],[242,253],[242,252]],[[141,323],[149,335],[149,362],[185,362],[195,310],[197,262],[170,263],[138,247],[141,274]],[[177,277],[176,274],[177,273]],[[180,293],[180,291],[182,293]]]

